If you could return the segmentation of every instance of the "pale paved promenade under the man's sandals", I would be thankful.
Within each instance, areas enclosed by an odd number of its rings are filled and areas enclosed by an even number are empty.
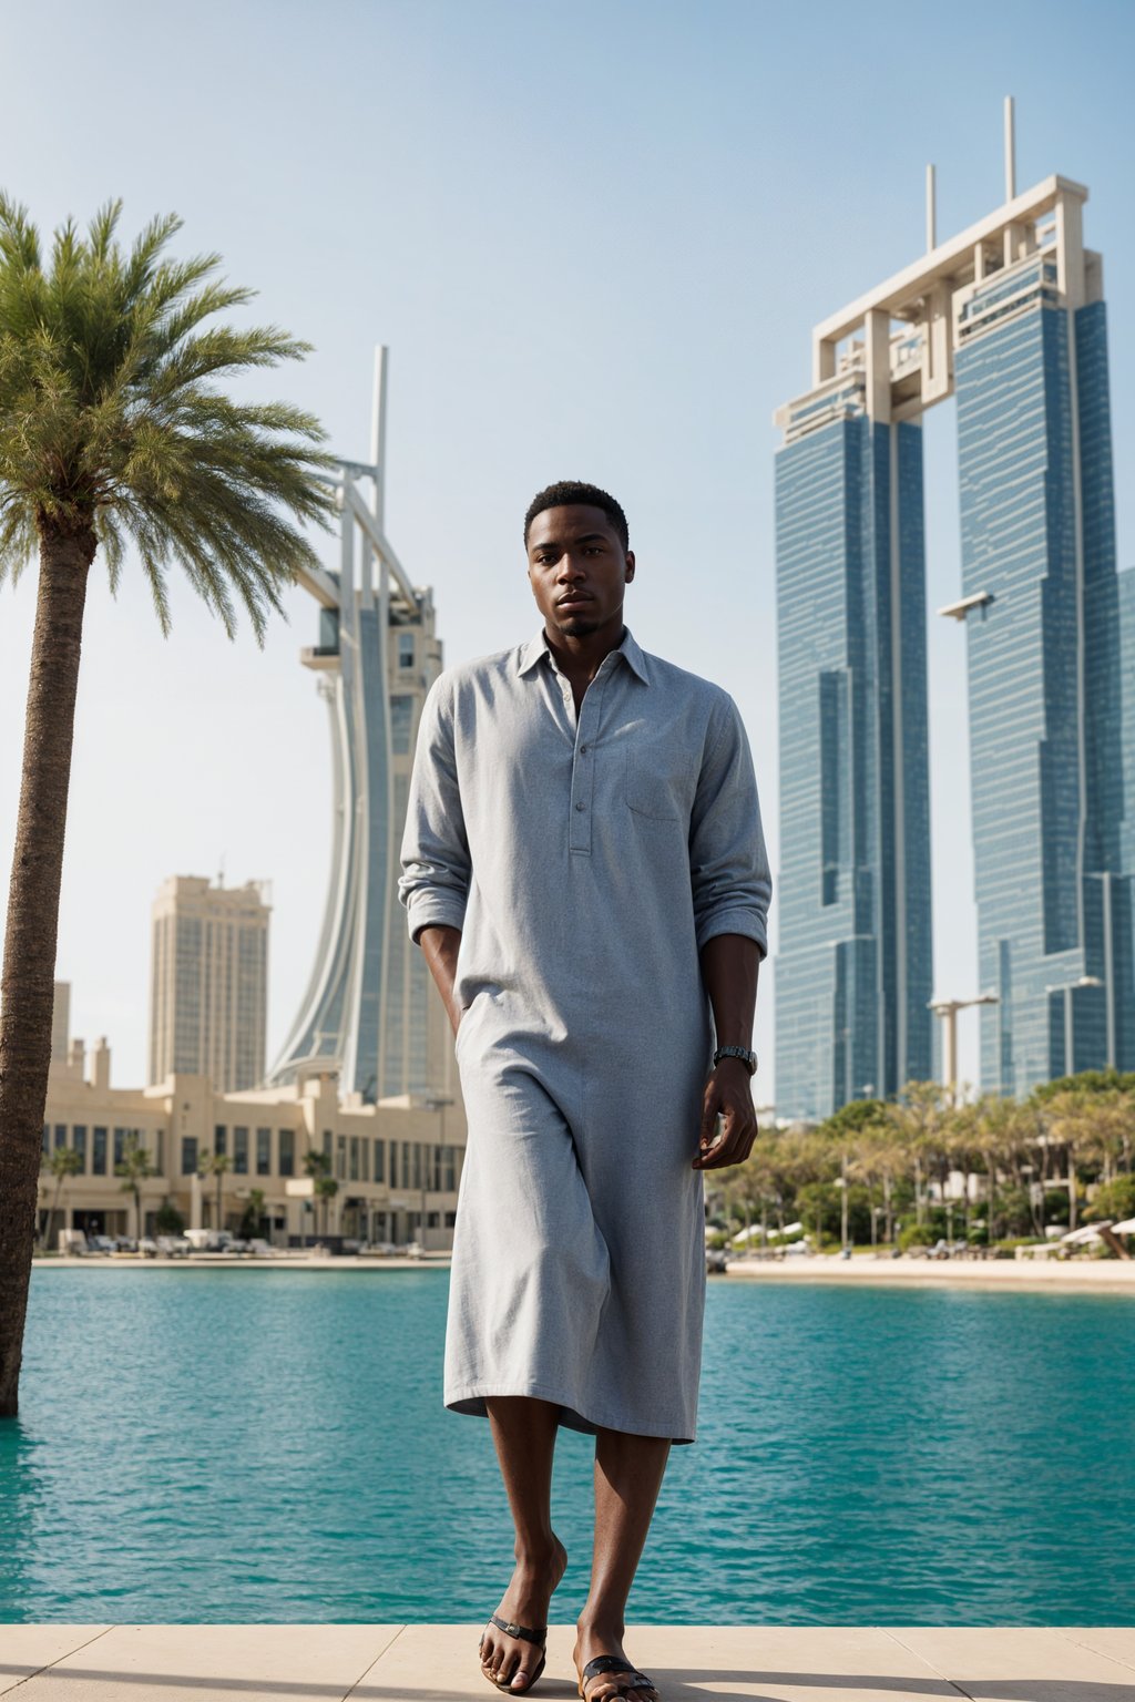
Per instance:
[[[483,1702],[480,1625],[0,1625],[19,1702]],[[533,1695],[577,1693],[553,1625]],[[1133,1702],[1135,1629],[636,1625],[662,1702]]]

